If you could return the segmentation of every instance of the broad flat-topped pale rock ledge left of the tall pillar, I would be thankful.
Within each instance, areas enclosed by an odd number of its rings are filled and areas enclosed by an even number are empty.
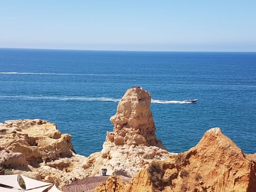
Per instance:
[[[62,188],[70,178],[85,175],[86,158],[74,153],[71,139],[41,119],[0,123],[0,166]]]

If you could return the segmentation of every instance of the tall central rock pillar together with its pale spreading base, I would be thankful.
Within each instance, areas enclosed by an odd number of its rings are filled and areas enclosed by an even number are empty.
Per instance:
[[[106,168],[110,175],[133,177],[154,159],[168,158],[171,153],[155,135],[150,103],[150,94],[143,88],[127,90],[118,103],[117,113],[110,118],[114,132],[107,133],[102,150],[86,159],[84,169],[91,175]]]

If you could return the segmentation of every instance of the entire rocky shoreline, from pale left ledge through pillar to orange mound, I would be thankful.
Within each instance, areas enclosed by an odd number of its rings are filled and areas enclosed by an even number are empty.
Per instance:
[[[256,154],[246,155],[219,128],[207,131],[198,145],[173,154],[156,138],[150,94],[127,90],[110,118],[100,152],[76,155],[71,135],[55,124],[34,120],[0,123],[0,166],[27,177],[54,182],[101,174],[133,177],[129,184],[112,176],[94,191],[255,191]],[[134,176],[135,175],[135,176]]]

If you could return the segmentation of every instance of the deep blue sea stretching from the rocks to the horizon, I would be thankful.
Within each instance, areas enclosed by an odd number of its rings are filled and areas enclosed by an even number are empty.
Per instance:
[[[109,118],[132,86],[151,94],[156,135],[171,152],[220,127],[256,153],[256,53],[0,49],[0,122],[41,118],[100,151]],[[182,103],[198,99],[196,103]]]

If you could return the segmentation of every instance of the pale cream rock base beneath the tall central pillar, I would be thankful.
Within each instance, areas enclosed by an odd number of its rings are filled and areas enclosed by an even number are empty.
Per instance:
[[[107,169],[107,174],[133,177],[143,166],[154,159],[165,159],[171,153],[151,146],[103,146],[102,151],[91,154],[83,164],[88,175],[101,174],[101,169]]]

